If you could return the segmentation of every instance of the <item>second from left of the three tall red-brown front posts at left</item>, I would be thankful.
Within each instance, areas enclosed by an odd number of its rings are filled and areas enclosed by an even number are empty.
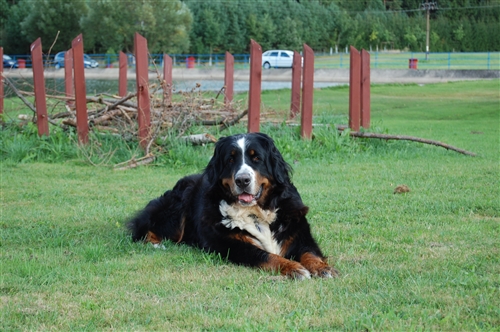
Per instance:
[[[78,133],[78,142],[87,144],[89,141],[89,124],[82,34],[73,39],[71,47],[73,48],[73,76],[75,79],[76,132]]]

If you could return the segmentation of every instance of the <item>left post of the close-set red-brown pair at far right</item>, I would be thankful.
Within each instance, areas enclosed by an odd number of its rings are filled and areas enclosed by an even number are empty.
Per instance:
[[[349,67],[349,128],[359,131],[361,113],[361,55],[351,46]]]

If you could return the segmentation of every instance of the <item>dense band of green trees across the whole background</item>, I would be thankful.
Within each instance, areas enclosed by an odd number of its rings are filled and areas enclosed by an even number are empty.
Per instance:
[[[70,47],[83,33],[87,53],[132,52],[134,33],[151,53],[248,53],[252,38],[267,49],[316,52],[358,49],[425,51],[432,0],[0,0],[0,45],[28,54]],[[500,0],[439,0],[430,12],[430,50],[500,51]]]

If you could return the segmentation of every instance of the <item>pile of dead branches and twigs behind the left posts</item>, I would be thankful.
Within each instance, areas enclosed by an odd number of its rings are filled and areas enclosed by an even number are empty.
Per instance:
[[[34,96],[34,93],[16,88],[8,78],[5,78],[5,81],[36,114],[35,107],[26,98]],[[219,130],[224,130],[236,124],[247,114],[247,110],[238,110],[241,108],[239,102],[225,105],[218,99],[223,95],[224,88],[215,97],[207,98],[206,93],[201,91],[201,85],[196,84],[189,91],[179,92],[178,95],[181,98],[176,98],[178,101],[166,102],[168,99],[163,91],[167,89],[162,85],[152,84],[149,89],[152,140],[157,137],[166,137],[167,131],[170,137],[172,133],[181,137],[192,126],[219,126]],[[48,105],[54,105],[49,112],[49,123],[64,130],[76,127],[74,98],[60,94],[47,94],[46,98]],[[50,103],[51,100],[54,102]],[[88,123],[89,127],[95,131],[108,132],[124,138],[134,137],[138,130],[137,115],[136,94],[129,94],[125,97],[109,94],[87,97]],[[36,116],[33,117],[33,121],[36,121]]]

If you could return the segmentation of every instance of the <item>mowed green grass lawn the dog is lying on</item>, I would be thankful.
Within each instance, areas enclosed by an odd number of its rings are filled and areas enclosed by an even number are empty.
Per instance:
[[[288,280],[185,245],[132,243],[124,221],[199,167],[2,162],[1,329],[498,331],[499,91],[498,80],[372,86],[372,130],[476,157],[326,129],[288,142],[263,125],[294,167],[337,279]],[[265,92],[263,104],[286,109],[289,94]],[[346,123],[346,87],[314,94],[315,123]],[[330,139],[347,142],[326,153]],[[193,149],[208,158],[210,148]],[[402,184],[410,192],[394,194]]]

